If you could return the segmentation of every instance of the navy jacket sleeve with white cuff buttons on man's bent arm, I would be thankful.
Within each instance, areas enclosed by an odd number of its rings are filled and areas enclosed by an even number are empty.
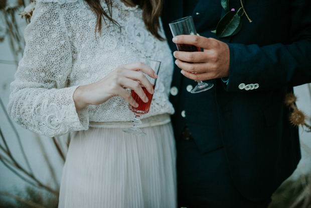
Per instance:
[[[245,92],[242,83],[258,84],[257,91],[311,82],[311,1],[295,0],[290,6],[290,31],[284,33],[290,33],[291,44],[228,44],[227,91]]]

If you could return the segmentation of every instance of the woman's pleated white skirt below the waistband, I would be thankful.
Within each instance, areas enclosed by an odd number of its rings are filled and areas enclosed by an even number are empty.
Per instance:
[[[59,206],[176,208],[176,150],[171,123],[141,128],[90,128],[72,134]]]

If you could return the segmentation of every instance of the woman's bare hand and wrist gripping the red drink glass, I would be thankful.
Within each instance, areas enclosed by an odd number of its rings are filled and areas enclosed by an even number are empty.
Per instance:
[[[141,62],[135,62],[118,66],[110,74],[97,82],[79,86],[73,94],[77,112],[88,105],[100,105],[109,98],[117,95],[123,97],[133,107],[138,107],[138,103],[125,90],[126,88],[135,90],[141,100],[147,102],[148,98],[139,82],[151,94],[154,93],[154,89],[148,79],[139,71],[148,74],[152,78],[158,77],[149,66]]]

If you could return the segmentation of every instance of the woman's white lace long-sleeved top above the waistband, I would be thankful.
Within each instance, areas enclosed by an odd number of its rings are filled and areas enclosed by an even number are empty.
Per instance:
[[[103,1],[104,2],[104,1]],[[107,11],[107,6],[102,3]],[[23,127],[46,136],[87,130],[89,122],[133,119],[128,102],[112,97],[76,112],[73,93],[96,82],[119,65],[146,57],[162,61],[150,112],[144,118],[173,114],[169,102],[173,58],[167,42],[148,32],[138,7],[113,2],[112,18],[95,37],[96,16],[83,0],[39,0],[25,30],[26,48],[11,84],[8,112]],[[108,21],[107,21],[108,23]],[[163,29],[161,35],[165,37]]]

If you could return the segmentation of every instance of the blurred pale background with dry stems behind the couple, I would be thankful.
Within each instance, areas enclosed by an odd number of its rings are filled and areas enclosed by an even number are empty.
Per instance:
[[[6,111],[34,8],[29,0],[0,0],[0,207],[56,208],[70,142],[70,135],[50,138],[23,129]],[[294,93],[311,125],[311,84],[294,87]],[[306,130],[299,127],[300,163],[273,194],[269,208],[311,208],[311,133]]]

